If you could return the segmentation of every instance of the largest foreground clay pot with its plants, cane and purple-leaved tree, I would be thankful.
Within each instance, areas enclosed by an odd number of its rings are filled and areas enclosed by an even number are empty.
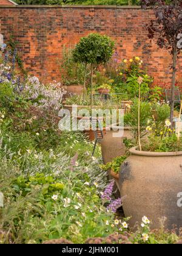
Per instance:
[[[178,34],[182,33],[182,2],[143,1],[155,4],[156,20],[149,26],[150,38],[158,33],[158,45],[170,49],[173,56],[172,100],[170,115],[163,126],[159,126],[153,116],[153,122],[147,126],[149,136],[143,141],[140,138],[140,88],[142,78],[139,77],[138,101],[138,146],[130,149],[130,157],[121,166],[120,191],[127,197],[123,202],[126,216],[132,216],[130,225],[134,226],[142,216],[152,220],[152,228],[160,227],[160,219],[166,217],[167,229],[174,225],[180,229],[181,215],[181,162],[182,138],[173,129],[174,90],[177,65]],[[168,25],[170,24],[170,29]],[[156,115],[158,116],[158,115]]]

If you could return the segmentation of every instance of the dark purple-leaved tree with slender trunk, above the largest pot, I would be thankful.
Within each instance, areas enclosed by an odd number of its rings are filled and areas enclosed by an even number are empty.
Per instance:
[[[155,19],[148,25],[149,38],[157,37],[157,45],[166,48],[172,55],[172,99],[170,123],[174,118],[175,80],[177,73],[177,57],[181,49],[182,34],[182,0],[142,0],[143,7],[153,6]]]

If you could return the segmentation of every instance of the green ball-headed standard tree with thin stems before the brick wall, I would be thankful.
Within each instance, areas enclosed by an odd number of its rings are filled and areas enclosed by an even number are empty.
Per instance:
[[[86,91],[86,69],[88,64],[91,66],[91,105],[93,104],[93,65],[108,62],[113,55],[114,46],[114,41],[110,37],[107,37],[107,35],[92,33],[87,37],[81,38],[73,50],[73,59],[75,62],[85,64],[84,94]]]

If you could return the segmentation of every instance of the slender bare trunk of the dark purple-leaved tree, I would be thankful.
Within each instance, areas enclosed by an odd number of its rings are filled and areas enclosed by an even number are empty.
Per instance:
[[[174,129],[173,127],[173,118],[174,118],[174,101],[175,101],[175,81],[176,81],[176,73],[177,73],[177,47],[174,49],[173,54],[173,66],[172,66],[172,98],[170,102],[170,123],[171,129]]]

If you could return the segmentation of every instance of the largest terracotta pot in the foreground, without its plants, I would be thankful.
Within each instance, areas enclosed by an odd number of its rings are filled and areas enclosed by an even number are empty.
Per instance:
[[[182,192],[182,151],[144,152],[130,149],[130,157],[121,166],[120,192],[127,196],[124,213],[132,216],[130,226],[143,216],[152,220],[152,229],[160,227],[159,218],[167,217],[166,228],[182,227],[182,208],[177,194]]]

